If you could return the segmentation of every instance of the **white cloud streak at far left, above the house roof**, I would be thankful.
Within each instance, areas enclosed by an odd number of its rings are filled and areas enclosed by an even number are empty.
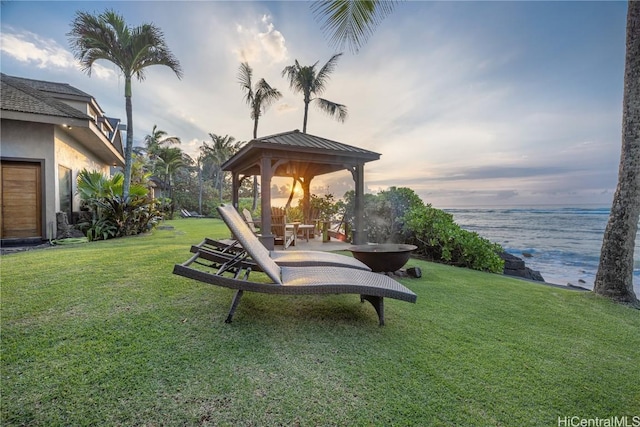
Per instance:
[[[40,37],[30,31],[16,32],[11,27],[2,31],[0,50],[20,62],[33,64],[38,68],[73,69],[79,68],[71,52],[60,46],[55,40]],[[110,79],[115,73],[96,64],[92,74],[100,79]]]

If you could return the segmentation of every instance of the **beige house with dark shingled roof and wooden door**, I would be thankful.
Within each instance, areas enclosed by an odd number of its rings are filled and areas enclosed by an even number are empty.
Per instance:
[[[78,172],[124,166],[122,125],[68,84],[0,81],[0,239],[55,238],[56,213],[80,210]]]

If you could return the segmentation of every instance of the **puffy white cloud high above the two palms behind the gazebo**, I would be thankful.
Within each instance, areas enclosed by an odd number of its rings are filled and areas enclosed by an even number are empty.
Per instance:
[[[236,25],[239,47],[233,52],[240,62],[266,62],[271,65],[288,59],[285,38],[271,21],[271,16],[263,15],[255,26]]]

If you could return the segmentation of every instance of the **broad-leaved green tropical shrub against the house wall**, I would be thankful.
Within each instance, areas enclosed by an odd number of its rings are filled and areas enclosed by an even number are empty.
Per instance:
[[[131,185],[129,197],[122,196],[124,177],[111,178],[86,169],[78,174],[78,194],[83,208],[91,214],[89,221],[79,224],[89,240],[106,240],[140,234],[155,226],[161,213],[147,199],[142,185]]]

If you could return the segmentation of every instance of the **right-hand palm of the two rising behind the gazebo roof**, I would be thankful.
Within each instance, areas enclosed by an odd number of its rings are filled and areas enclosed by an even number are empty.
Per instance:
[[[329,75],[335,70],[341,55],[342,53],[333,55],[318,71],[316,71],[318,62],[309,66],[301,66],[297,59],[293,65],[289,65],[282,70],[282,77],[287,77],[291,89],[296,93],[302,93],[304,95],[303,133],[307,133],[307,116],[309,113],[309,103],[311,103],[311,101],[314,101],[322,111],[335,117],[338,121],[344,122],[347,119],[347,107],[345,105],[318,97],[325,91],[325,86],[329,81]],[[312,95],[316,97],[312,98]]]

